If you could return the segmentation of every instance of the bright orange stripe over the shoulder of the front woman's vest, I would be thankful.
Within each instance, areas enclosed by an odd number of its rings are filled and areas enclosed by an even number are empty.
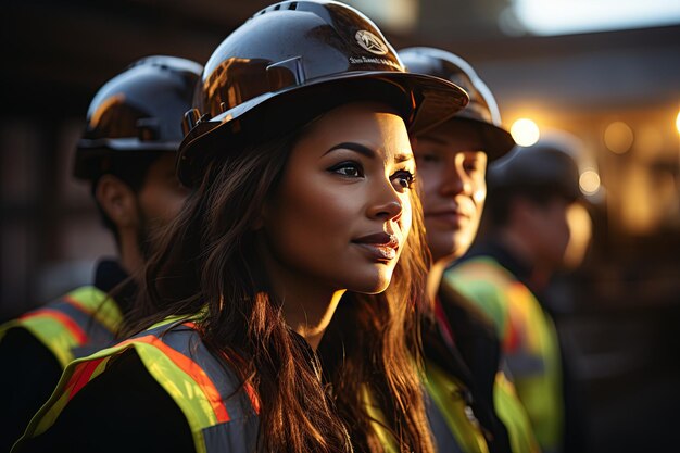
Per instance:
[[[148,343],[161,350],[161,352],[163,352],[171,361],[173,361],[175,365],[177,365],[187,375],[191,376],[191,378],[201,388],[201,390],[203,390],[205,398],[210,402],[210,405],[215,413],[215,417],[217,417],[217,423],[230,420],[229,413],[227,412],[227,407],[224,404],[222,397],[217,391],[217,388],[215,387],[211,378],[196,362],[181,354],[180,352],[175,351],[173,348],[165,344],[154,335],[147,335],[143,337],[129,339],[119,343],[118,347],[122,347],[133,341]]]

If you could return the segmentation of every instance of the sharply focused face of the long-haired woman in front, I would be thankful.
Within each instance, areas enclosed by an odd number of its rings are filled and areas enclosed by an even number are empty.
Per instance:
[[[347,104],[308,125],[263,214],[273,277],[383,291],[411,228],[414,172],[404,122],[381,104]]]

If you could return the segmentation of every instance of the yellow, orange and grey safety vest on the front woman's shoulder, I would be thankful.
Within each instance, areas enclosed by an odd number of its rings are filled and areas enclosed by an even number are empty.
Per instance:
[[[197,453],[255,451],[260,403],[202,342],[190,320],[168,318],[128,340],[72,362],[23,439],[47,431],[111,358],[134,349],[144,367],[184,413]],[[20,440],[20,443],[22,442]]]

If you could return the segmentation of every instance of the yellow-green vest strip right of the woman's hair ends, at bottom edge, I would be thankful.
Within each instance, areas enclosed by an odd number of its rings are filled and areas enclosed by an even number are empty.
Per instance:
[[[489,453],[463,386],[431,361],[425,362],[427,416],[438,451]]]

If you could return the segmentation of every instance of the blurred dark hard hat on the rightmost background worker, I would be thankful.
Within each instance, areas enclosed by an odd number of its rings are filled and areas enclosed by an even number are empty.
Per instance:
[[[489,197],[496,192],[557,193],[581,197],[577,142],[564,135],[542,137],[530,147],[516,147],[487,171]]]

